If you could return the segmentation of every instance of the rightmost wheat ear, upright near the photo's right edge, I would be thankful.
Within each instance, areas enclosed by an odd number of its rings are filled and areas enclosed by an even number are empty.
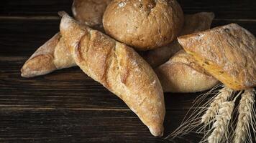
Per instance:
[[[255,90],[245,90],[239,103],[239,116],[237,119],[237,127],[234,131],[234,143],[243,143],[247,139],[252,142],[250,134],[250,125],[254,124],[254,104]],[[247,138],[247,136],[249,136]]]

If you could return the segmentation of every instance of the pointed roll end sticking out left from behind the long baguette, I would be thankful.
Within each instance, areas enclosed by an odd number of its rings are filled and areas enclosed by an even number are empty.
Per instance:
[[[22,66],[21,72],[22,77],[35,77],[75,65],[63,38],[58,33],[32,54]]]

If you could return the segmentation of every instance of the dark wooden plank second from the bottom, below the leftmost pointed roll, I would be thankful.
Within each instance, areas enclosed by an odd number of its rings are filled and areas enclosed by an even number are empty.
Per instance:
[[[25,60],[25,57],[0,56],[0,108],[129,110],[121,99],[78,67],[22,78],[19,69]],[[165,94],[166,108],[188,109],[196,95]],[[175,102],[177,99],[180,102]]]

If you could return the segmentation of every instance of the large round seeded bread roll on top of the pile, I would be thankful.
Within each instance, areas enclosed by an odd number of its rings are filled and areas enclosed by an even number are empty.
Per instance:
[[[145,51],[173,41],[183,19],[175,0],[114,0],[104,12],[103,26],[114,39]]]

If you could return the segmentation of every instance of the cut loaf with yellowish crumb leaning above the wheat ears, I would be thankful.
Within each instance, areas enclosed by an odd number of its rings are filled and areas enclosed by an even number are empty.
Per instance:
[[[255,36],[238,24],[180,36],[178,42],[227,87],[234,90],[255,87]]]

